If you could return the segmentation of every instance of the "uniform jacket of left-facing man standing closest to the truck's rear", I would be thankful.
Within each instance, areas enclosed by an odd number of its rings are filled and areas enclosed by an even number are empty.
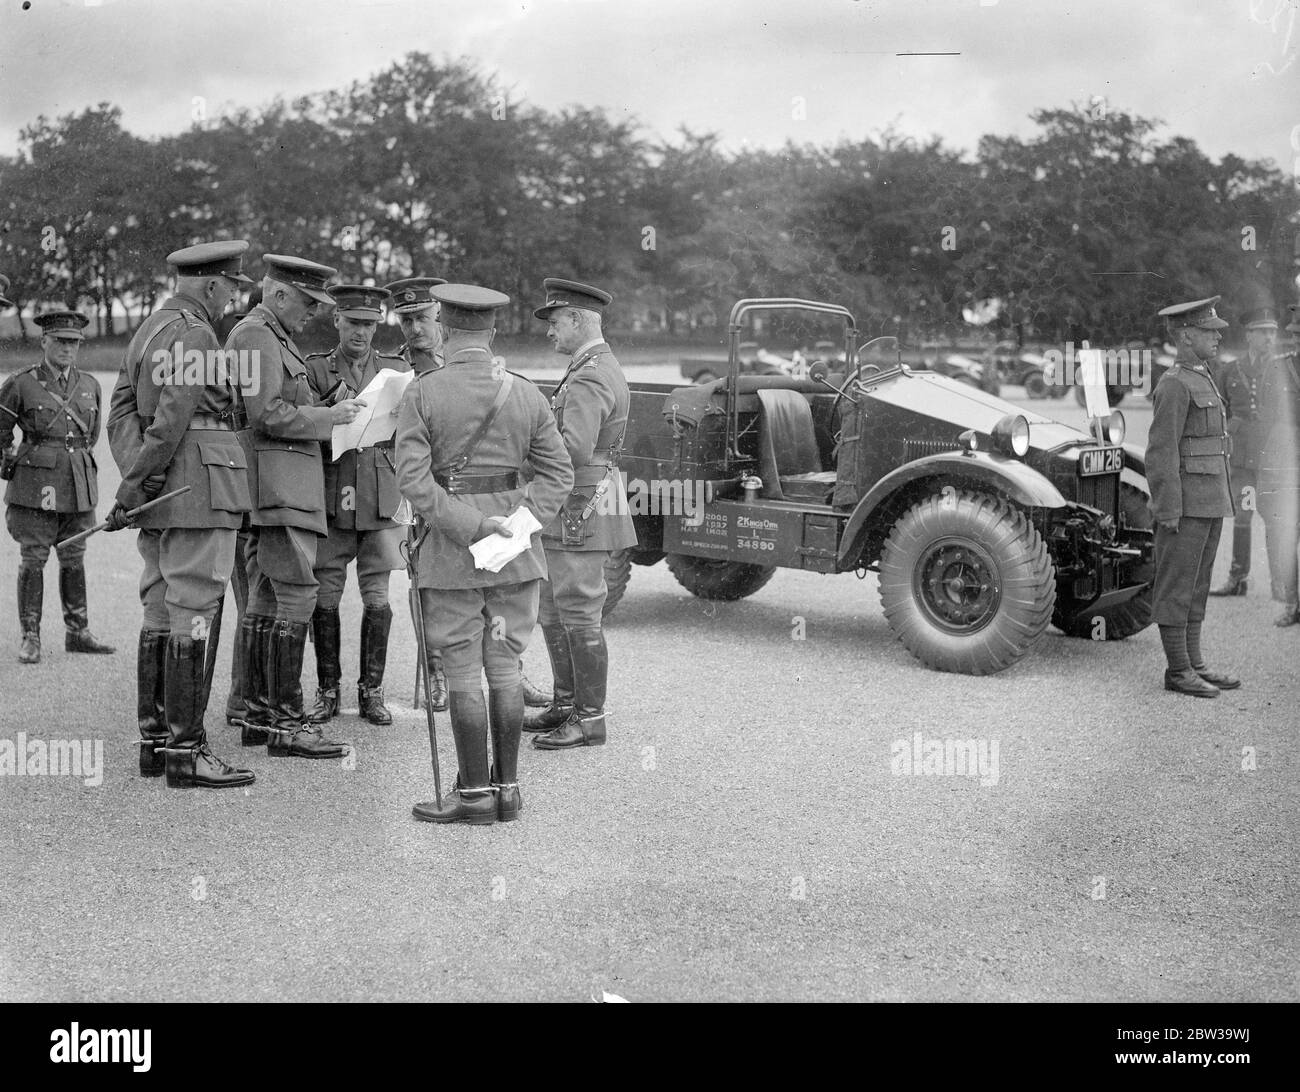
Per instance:
[[[618,473],[632,395],[614,352],[604,342],[576,356],[551,395],[555,424],[573,463],[573,491],[566,510],[577,515],[592,499],[612,464],[606,493],[584,523],[581,545],[562,541],[556,519],[542,530],[547,550],[623,550],[637,545],[632,515],[624,503]]]

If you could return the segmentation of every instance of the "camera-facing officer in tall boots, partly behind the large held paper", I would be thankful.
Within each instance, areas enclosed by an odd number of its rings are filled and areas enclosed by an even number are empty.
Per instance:
[[[368,285],[334,285],[334,328],[338,344],[330,352],[307,358],[307,378],[316,398],[325,404],[339,396],[355,398],[382,369],[410,372],[402,356],[377,352],[372,344],[384,317],[386,289]],[[394,422],[395,424],[395,422]],[[339,618],[347,566],[356,562],[361,589],[361,671],[358,703],[370,724],[391,724],[384,705],[384,666],[389,653],[389,573],[402,568],[402,526],[393,516],[402,503],[398,493],[393,439],[360,451],[344,451],[337,460],[329,442],[325,454],[325,516],[329,533],[316,551],[316,611],[312,641],[316,645],[316,675],[320,689],[308,712],[313,724],[324,724],[338,712]]]

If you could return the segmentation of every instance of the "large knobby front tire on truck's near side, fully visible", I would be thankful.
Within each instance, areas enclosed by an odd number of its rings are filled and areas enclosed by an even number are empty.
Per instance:
[[[1046,543],[1018,508],[946,490],[893,525],[880,602],[894,636],[936,671],[992,675],[1043,636],[1056,602]]]

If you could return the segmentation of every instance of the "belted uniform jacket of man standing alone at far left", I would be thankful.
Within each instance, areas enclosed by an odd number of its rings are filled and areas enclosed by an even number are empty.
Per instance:
[[[68,390],[58,390],[58,369],[42,361],[23,368],[0,386],[0,451],[22,430],[6,504],[48,512],[88,512],[99,503],[99,467],[92,451],[99,439],[103,395],[92,376],[68,369]],[[78,424],[78,419],[81,424]],[[84,428],[83,428],[84,425]],[[87,447],[68,450],[64,437]]]

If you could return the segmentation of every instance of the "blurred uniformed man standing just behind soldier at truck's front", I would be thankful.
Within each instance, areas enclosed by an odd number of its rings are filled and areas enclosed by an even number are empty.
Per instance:
[[[1242,322],[1245,326],[1245,358],[1223,364],[1214,376],[1227,406],[1227,434],[1232,439],[1228,465],[1232,472],[1236,519],[1232,523],[1232,566],[1227,580],[1210,589],[1212,595],[1245,594],[1251,572],[1251,523],[1258,497],[1256,472],[1264,448],[1260,385],[1273,361],[1273,344],[1278,334],[1277,315],[1268,307],[1247,312]]]

